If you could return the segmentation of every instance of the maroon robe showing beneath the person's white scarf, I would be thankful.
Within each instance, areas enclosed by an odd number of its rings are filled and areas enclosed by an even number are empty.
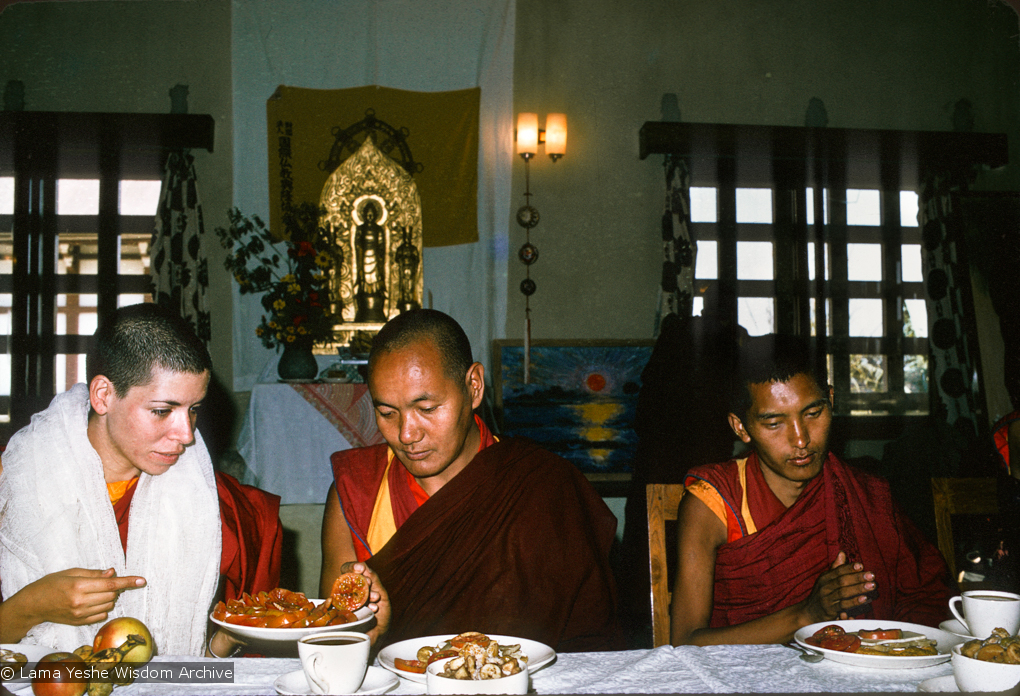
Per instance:
[[[113,505],[120,532],[120,545],[128,550],[128,525],[132,486]],[[219,520],[223,530],[219,575],[224,599],[240,599],[279,586],[284,528],[279,524],[279,496],[240,483],[216,471]]]

